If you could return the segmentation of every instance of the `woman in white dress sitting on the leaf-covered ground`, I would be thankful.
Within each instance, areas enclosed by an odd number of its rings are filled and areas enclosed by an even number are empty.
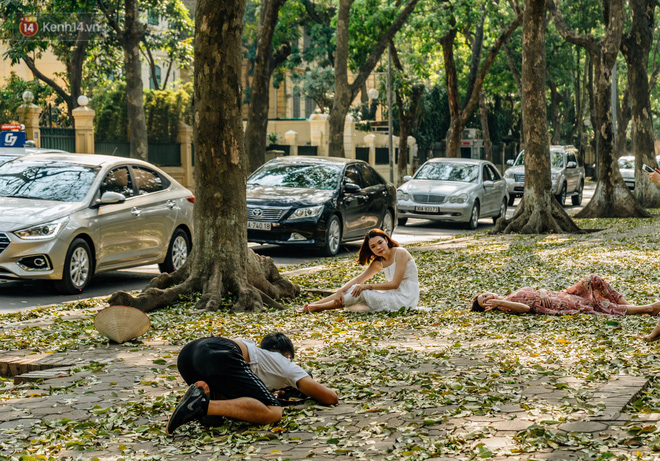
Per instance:
[[[298,310],[316,312],[355,306],[351,310],[375,312],[417,307],[419,281],[415,260],[389,235],[380,229],[370,230],[364,237],[357,261],[362,266],[369,265],[362,274],[335,294]],[[381,270],[387,282],[365,283]]]

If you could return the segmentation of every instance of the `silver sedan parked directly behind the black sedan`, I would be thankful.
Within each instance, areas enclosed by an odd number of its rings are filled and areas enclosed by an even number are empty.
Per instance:
[[[399,225],[408,218],[465,223],[476,229],[479,218],[506,216],[506,182],[486,160],[434,158],[397,190]]]

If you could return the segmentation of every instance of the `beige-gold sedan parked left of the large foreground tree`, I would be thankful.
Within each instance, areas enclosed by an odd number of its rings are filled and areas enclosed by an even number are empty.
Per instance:
[[[140,160],[34,154],[0,165],[0,278],[54,280],[62,293],[93,274],[158,263],[191,249],[192,193]]]

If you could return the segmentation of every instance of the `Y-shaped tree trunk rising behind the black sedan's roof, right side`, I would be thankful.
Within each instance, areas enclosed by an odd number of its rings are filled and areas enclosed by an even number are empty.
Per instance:
[[[352,83],[348,81],[348,23],[351,5],[354,0],[340,0],[337,13],[337,49],[335,51],[335,97],[328,118],[329,155],[345,157],[344,123],[351,103],[356,98],[360,88],[380,61],[385,48],[394,35],[403,27],[408,17],[417,6],[419,0],[408,0],[387,31],[380,36],[371,54],[360,67]],[[389,115],[388,115],[389,116]]]

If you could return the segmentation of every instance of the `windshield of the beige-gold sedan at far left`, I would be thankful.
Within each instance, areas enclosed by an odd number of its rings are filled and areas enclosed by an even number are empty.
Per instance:
[[[79,202],[87,195],[99,170],[57,161],[7,162],[0,165],[0,197]]]

